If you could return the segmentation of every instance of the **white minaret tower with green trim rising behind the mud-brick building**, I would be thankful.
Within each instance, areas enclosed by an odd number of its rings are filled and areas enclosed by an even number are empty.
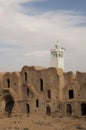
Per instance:
[[[54,48],[50,50],[50,55],[51,66],[64,70],[64,48],[61,48],[57,43]]]

